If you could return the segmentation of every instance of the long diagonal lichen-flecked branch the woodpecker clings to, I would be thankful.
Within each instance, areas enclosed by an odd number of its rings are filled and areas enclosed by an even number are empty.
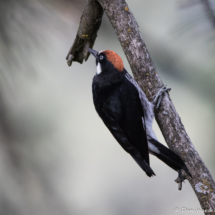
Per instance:
[[[148,99],[152,100],[163,82],[156,72],[133,14],[124,0],[98,2],[115,29],[134,78]],[[201,207],[206,210],[205,214],[215,214],[215,183],[187,135],[168,93],[164,95],[155,117],[168,146],[181,156],[192,174],[192,178],[184,176],[193,187]]]

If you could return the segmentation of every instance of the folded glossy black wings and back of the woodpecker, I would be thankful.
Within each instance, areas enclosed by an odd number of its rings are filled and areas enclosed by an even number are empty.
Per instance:
[[[125,77],[107,92],[98,93],[93,86],[93,96],[96,110],[112,135],[147,172],[150,167],[144,111],[135,86]],[[152,173],[150,169],[148,174]]]

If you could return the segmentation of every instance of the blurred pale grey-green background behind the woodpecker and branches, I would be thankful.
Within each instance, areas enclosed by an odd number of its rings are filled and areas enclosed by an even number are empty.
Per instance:
[[[215,1],[127,3],[215,176]],[[156,177],[148,178],[103,125],[92,101],[93,57],[67,66],[84,4],[0,0],[0,214],[172,215],[176,207],[200,208],[189,182],[178,191],[177,173],[154,157]],[[106,15],[94,49],[117,52],[130,72]],[[156,122],[154,128],[165,144]]]

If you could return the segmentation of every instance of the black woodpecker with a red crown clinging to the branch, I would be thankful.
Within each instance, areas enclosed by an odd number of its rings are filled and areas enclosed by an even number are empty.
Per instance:
[[[149,177],[155,176],[149,154],[178,172],[177,183],[184,181],[181,170],[192,177],[181,157],[161,144],[152,129],[155,108],[170,88],[162,87],[150,102],[117,53],[88,50],[97,68],[92,84],[94,106],[117,142]]]

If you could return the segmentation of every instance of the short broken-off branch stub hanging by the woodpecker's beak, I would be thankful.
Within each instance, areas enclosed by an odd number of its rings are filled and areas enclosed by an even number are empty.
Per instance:
[[[103,9],[95,0],[88,0],[81,16],[78,32],[69,53],[66,56],[68,66],[73,61],[83,63],[90,53],[88,48],[92,48],[97,37],[97,31],[101,25]]]

